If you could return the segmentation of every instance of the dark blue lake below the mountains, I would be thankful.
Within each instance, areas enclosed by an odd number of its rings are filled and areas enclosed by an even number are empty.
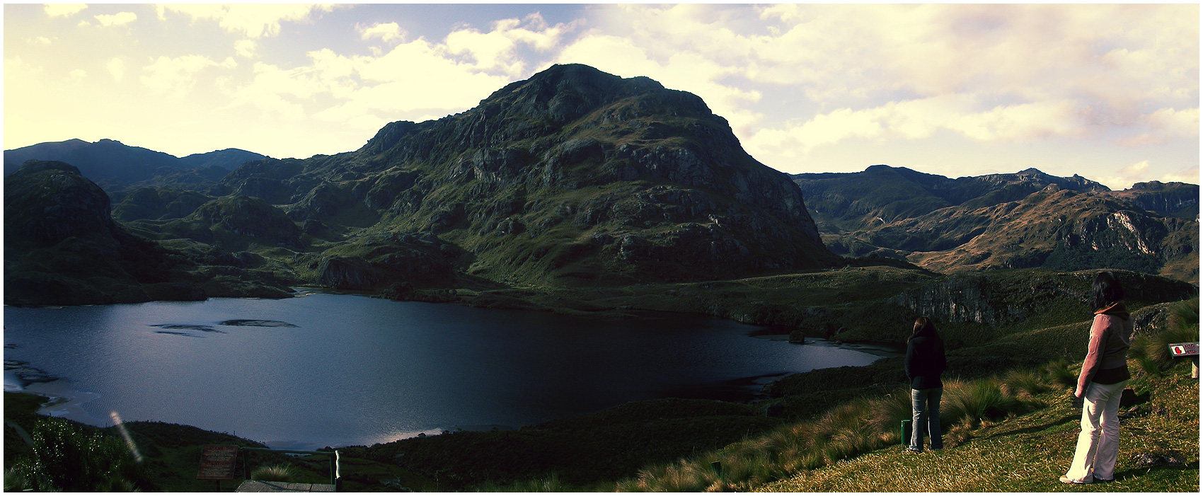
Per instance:
[[[70,400],[49,408],[58,417],[112,425],[115,413],[295,449],[518,427],[635,400],[749,398],[780,374],[878,358],[721,319],[334,294],[5,307],[4,326],[5,389]],[[30,370],[60,380],[23,384]]]

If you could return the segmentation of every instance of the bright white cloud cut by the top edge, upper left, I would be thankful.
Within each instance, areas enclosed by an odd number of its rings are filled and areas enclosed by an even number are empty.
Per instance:
[[[333,5],[296,5],[296,4],[194,4],[194,5],[156,5],[160,19],[166,13],[176,12],[190,16],[194,20],[215,20],[221,29],[247,37],[271,37],[280,34],[282,22],[302,22],[318,12],[330,12]]]

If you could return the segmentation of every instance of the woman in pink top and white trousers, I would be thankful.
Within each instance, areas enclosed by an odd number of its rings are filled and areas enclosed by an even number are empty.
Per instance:
[[[1127,386],[1127,349],[1132,318],[1124,308],[1124,289],[1114,273],[1100,272],[1091,287],[1095,321],[1090,326],[1090,348],[1081,362],[1078,388],[1083,398],[1081,433],[1066,484],[1115,480],[1115,457],[1120,441],[1120,396]]]

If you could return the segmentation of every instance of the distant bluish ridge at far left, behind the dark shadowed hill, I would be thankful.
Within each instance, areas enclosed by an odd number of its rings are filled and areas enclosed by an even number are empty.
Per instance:
[[[95,143],[67,140],[5,150],[4,171],[5,176],[11,175],[26,160],[63,161],[76,166],[84,177],[112,194],[131,185],[207,188],[242,163],[262,158],[257,153],[227,148],[180,159],[114,140]]]

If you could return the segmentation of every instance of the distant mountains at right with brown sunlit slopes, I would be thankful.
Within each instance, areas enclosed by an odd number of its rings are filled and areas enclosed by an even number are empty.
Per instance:
[[[942,273],[1113,267],[1198,281],[1198,187],[1112,191],[1029,169],[949,179],[908,169],[796,175],[835,253]]]

